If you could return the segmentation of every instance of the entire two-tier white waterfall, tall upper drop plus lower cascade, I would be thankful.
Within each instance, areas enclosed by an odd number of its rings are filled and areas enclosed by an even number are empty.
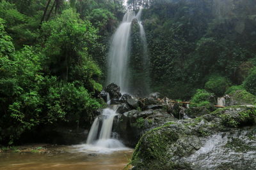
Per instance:
[[[147,56],[147,40],[143,25],[140,22],[141,10],[135,15],[134,12],[127,12],[123,21],[113,35],[112,43],[108,57],[108,83],[116,83],[123,92],[129,90],[129,45],[131,38],[132,20],[136,18],[140,25],[141,42],[143,43],[143,55]],[[147,58],[144,57],[144,65],[147,64]],[[110,104],[109,94],[107,104]],[[115,108],[115,107],[114,107]],[[95,118],[90,129],[86,144],[100,148],[124,148],[124,145],[118,139],[112,138],[111,131],[116,110],[105,108],[102,115]]]

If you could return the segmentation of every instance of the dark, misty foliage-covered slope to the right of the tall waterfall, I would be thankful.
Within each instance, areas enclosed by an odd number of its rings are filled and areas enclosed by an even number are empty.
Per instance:
[[[136,8],[146,8],[142,19],[152,90],[189,99],[196,89],[205,88],[209,76],[218,74],[226,80],[207,86],[220,96],[228,81],[240,85],[255,64],[255,1],[150,0],[143,4],[138,0],[129,4],[134,2]],[[218,85],[221,89],[216,89]]]

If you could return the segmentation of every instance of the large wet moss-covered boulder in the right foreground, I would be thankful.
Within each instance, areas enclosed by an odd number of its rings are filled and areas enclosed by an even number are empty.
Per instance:
[[[132,169],[256,169],[255,125],[253,106],[168,122],[141,137]]]

